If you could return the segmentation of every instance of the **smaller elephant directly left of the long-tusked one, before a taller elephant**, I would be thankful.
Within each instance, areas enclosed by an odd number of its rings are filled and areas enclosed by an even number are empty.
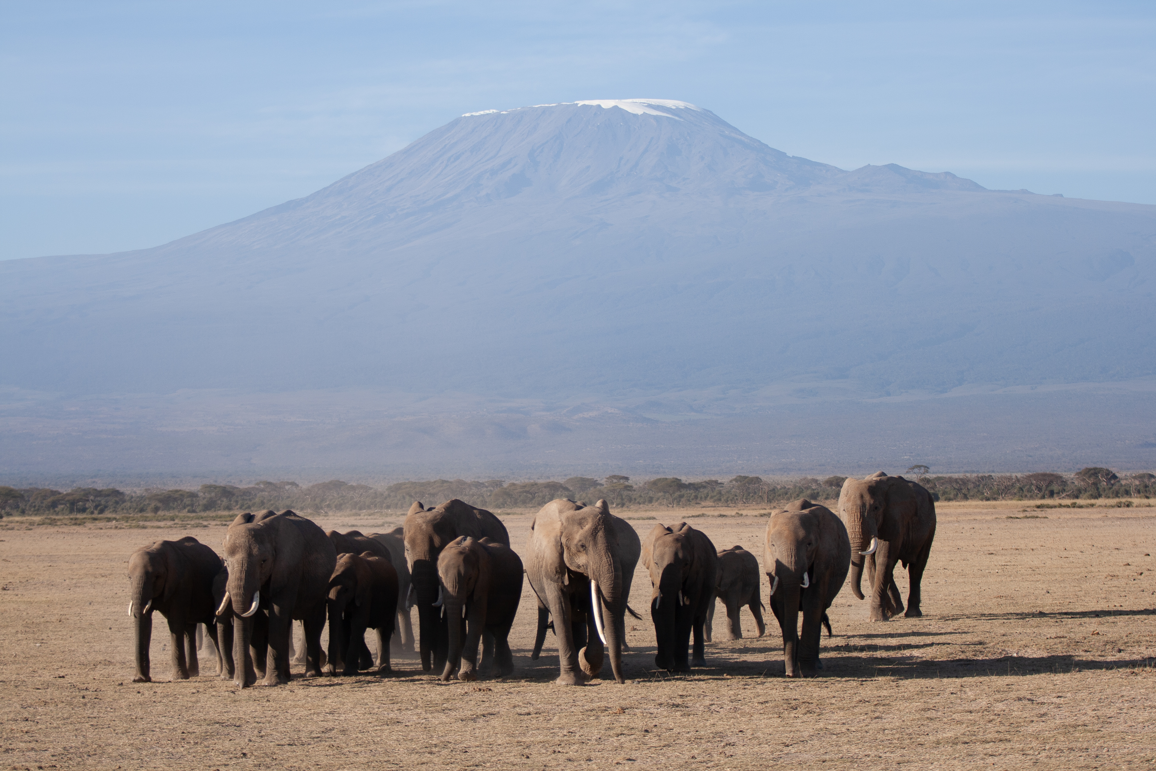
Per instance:
[[[442,549],[437,572],[442,581],[442,610],[450,627],[449,658],[442,680],[449,681],[455,672],[458,680],[477,680],[477,644],[483,630],[494,637],[498,676],[509,676],[513,672],[513,653],[507,638],[521,600],[525,572],[521,559],[504,543],[464,535]],[[487,663],[483,657],[483,674]]]

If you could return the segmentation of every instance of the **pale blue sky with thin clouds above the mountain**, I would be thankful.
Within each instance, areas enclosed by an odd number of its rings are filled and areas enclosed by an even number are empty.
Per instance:
[[[0,2],[0,259],[161,244],[465,112],[707,108],[845,169],[1156,203],[1150,2]]]

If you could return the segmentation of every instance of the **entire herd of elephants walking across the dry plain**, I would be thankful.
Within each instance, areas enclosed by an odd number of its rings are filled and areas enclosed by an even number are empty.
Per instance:
[[[864,599],[867,568],[869,618],[904,611],[896,563],[909,571],[906,616],[921,616],[920,580],[935,535],[935,504],[920,484],[882,472],[847,479],[838,514],[807,499],[771,513],[763,544],[769,603],[783,631],[787,676],[810,676],[820,663],[821,630],[831,633],[828,608],[847,573]],[[294,621],[304,629],[306,676],[391,672],[391,647],[420,653],[422,669],[442,680],[476,680],[513,672],[507,637],[523,581],[538,599],[533,659],[548,628],[557,637],[561,684],[595,677],[609,657],[614,680],[625,682],[625,616],[635,570],[651,580],[651,620],[660,669],[705,666],[716,599],[727,630],[741,637],[748,607],[764,632],[758,559],[742,547],[718,550],[686,522],[657,525],[644,539],[593,505],[551,501],[529,527],[525,558],[510,548],[505,525],[458,499],[415,503],[405,525],[363,535],[324,532],[291,511],[238,516],[225,533],[223,556],[193,538],[158,541],[128,563],[135,624],[135,682],[148,682],[153,611],[169,624],[178,679],[198,673],[198,624],[217,651],[217,669],[245,688],[286,683],[294,655]],[[410,609],[417,608],[417,635]],[[799,614],[802,613],[802,629]],[[321,635],[328,622],[328,646]],[[377,658],[365,645],[375,630]],[[392,640],[392,645],[391,645]],[[415,646],[416,643],[416,646]],[[482,660],[477,661],[479,646]]]

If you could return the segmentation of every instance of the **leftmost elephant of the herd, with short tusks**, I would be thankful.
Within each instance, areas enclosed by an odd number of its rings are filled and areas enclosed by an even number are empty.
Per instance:
[[[153,682],[149,674],[149,643],[153,611],[169,622],[172,670],[177,680],[200,674],[197,659],[197,624],[213,624],[213,577],[221,558],[192,536],[157,541],[128,558],[128,617],[135,625],[134,683]]]

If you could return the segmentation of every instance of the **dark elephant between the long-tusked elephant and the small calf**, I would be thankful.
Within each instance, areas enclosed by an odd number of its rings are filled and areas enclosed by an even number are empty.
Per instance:
[[[687,522],[674,528],[655,525],[643,542],[643,565],[650,572],[651,618],[658,652],[654,665],[667,672],[705,667],[706,611],[714,605],[719,556],[702,531]],[[694,655],[690,637],[694,635]]]

